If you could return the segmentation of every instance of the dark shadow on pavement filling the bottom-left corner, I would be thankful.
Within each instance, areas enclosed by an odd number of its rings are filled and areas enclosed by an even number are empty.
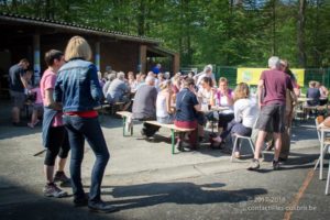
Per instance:
[[[73,198],[46,198],[1,178],[0,219],[66,219],[66,220],[106,220],[122,219],[116,213],[95,213],[87,207],[75,208]]]

